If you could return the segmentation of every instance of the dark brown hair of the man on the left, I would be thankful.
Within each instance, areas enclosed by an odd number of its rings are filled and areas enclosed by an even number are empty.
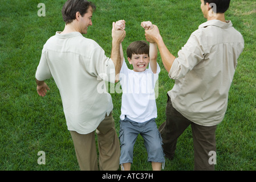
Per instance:
[[[87,13],[88,9],[92,7],[95,10],[95,5],[86,0],[68,0],[62,8],[62,17],[66,24],[73,22],[76,19],[76,12],[79,12],[81,16]]]

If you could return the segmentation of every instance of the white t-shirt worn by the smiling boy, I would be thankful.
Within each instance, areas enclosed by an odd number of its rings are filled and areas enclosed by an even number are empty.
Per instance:
[[[120,70],[120,84],[123,90],[120,119],[145,122],[157,118],[155,85],[159,78],[160,67],[153,73],[150,65],[144,72],[135,72],[127,67],[125,60]]]

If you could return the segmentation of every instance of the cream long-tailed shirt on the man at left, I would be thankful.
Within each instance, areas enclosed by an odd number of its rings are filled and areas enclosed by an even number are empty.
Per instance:
[[[79,32],[59,33],[44,44],[36,79],[54,78],[68,130],[88,134],[113,109],[105,81],[115,82],[115,65],[94,40]]]

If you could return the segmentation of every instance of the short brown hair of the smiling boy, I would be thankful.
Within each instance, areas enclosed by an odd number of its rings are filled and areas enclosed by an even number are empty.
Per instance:
[[[135,41],[127,47],[127,57],[132,59],[132,54],[135,55],[149,55],[149,45],[143,40]]]

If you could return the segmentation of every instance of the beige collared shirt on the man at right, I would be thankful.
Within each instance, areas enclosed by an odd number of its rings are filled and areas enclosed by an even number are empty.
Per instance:
[[[220,123],[243,47],[243,37],[230,20],[202,23],[170,68],[169,77],[175,80],[168,92],[173,107],[198,125]]]

